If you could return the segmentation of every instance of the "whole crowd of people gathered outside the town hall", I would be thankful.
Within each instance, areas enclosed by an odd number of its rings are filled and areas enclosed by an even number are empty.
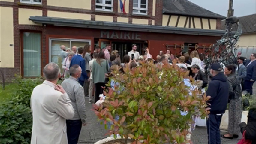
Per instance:
[[[145,47],[144,54],[140,55],[136,44],[132,45],[132,50],[124,55],[122,61],[117,50],[110,52],[111,45],[106,45],[105,48],[95,46],[94,51],[90,45],[78,48],[73,46],[72,49],[60,46],[60,49],[63,74],[60,74],[57,64],[47,64],[44,67],[46,80],[32,92],[32,141],[35,143],[40,140],[44,143],[76,144],[82,125],[86,125],[85,97],[89,98],[89,103],[100,100],[103,87],[108,82],[106,74],[110,72],[111,66],[128,65],[134,68],[140,66],[142,61],[152,61],[159,65],[176,64],[179,68],[190,71],[189,75],[199,81],[196,87],[211,96],[211,113],[207,118],[209,144],[220,144],[220,137],[237,138],[240,130],[242,133],[246,130],[246,138],[255,142],[255,109],[249,112],[248,123],[242,123],[241,128],[239,127],[242,117],[242,91],[252,94],[252,85],[256,80],[255,53],[251,54],[250,60],[238,55],[239,65],[223,67],[218,63],[206,66],[205,56],[197,51],[190,54],[181,51],[176,56],[167,49],[166,53],[160,51],[156,60],[153,60],[148,47]],[[207,76],[206,67],[210,67],[211,76]],[[61,85],[57,85],[62,75],[65,80]],[[187,85],[190,85],[189,79],[186,80]],[[221,118],[228,103],[228,133],[220,135]],[[49,131],[52,133],[48,133]]]

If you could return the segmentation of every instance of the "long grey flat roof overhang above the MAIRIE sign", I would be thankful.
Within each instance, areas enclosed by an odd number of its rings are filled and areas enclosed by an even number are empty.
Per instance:
[[[65,19],[65,18],[45,17],[45,16],[30,16],[29,20],[35,23],[50,24],[54,26],[81,27],[81,28],[91,28],[91,29],[110,29],[110,30],[137,31],[137,32],[157,32],[157,33],[169,33],[169,34],[208,35],[208,36],[222,36],[224,34],[223,30],[150,26],[150,25],[119,23],[119,22],[101,22],[101,21],[89,21],[89,20],[82,20],[82,19]]]

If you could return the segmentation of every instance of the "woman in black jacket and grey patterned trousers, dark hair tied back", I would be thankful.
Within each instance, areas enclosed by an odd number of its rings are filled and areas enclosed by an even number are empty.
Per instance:
[[[228,139],[238,138],[242,118],[242,91],[236,79],[235,68],[233,65],[228,65],[224,70],[229,83],[228,134],[221,135],[221,137]]]

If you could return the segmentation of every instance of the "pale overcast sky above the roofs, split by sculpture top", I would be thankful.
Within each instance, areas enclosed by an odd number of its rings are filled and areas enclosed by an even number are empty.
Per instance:
[[[189,0],[207,10],[227,16],[229,0]],[[256,13],[255,0],[233,0],[234,16],[246,16]]]

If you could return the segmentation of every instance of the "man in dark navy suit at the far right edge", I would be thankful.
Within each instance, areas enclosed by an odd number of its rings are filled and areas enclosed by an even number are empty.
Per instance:
[[[256,54],[252,53],[250,59],[251,61],[247,61],[245,64],[247,74],[244,82],[244,90],[248,91],[248,93],[252,95],[252,85],[256,81]]]

